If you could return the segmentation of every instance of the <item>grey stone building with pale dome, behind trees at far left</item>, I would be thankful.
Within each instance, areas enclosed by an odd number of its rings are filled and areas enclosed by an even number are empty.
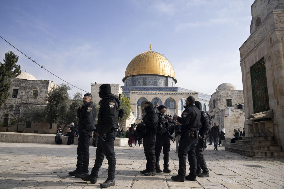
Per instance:
[[[32,107],[46,106],[46,95],[56,84],[49,80],[37,80],[33,75],[22,72],[17,78],[8,79],[11,82],[10,96],[0,107],[0,122],[4,127],[0,131],[5,131],[10,121],[17,118],[22,112]],[[54,133],[56,124],[23,122],[15,124],[9,128],[11,132],[25,133]]]

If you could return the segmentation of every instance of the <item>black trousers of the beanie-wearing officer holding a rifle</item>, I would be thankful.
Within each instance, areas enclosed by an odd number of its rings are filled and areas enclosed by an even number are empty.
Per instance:
[[[170,153],[170,138],[166,133],[156,135],[155,156],[156,156],[156,169],[160,169],[160,154],[163,148],[164,154],[164,169],[169,168],[169,153]]]

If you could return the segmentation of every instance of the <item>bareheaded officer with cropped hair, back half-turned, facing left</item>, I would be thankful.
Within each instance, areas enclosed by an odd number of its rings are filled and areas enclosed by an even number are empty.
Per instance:
[[[172,176],[172,180],[184,182],[186,180],[196,181],[196,144],[199,138],[200,127],[200,110],[194,104],[194,97],[189,96],[186,99],[185,110],[181,118],[174,116],[174,120],[178,120],[181,127],[181,137],[178,146],[179,169],[178,175]],[[186,155],[188,155],[189,175],[185,176],[186,171]]]

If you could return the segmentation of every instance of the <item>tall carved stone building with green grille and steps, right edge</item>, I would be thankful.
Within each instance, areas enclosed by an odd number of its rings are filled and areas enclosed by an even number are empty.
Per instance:
[[[251,16],[251,35],[239,49],[246,137],[225,149],[255,157],[283,157],[284,1],[256,0]]]

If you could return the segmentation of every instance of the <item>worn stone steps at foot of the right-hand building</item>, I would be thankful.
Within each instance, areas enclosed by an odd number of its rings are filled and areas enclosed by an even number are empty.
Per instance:
[[[228,140],[224,142],[225,150],[238,154],[250,157],[284,157],[281,146],[278,146],[273,137],[239,137],[235,144],[229,145]]]

